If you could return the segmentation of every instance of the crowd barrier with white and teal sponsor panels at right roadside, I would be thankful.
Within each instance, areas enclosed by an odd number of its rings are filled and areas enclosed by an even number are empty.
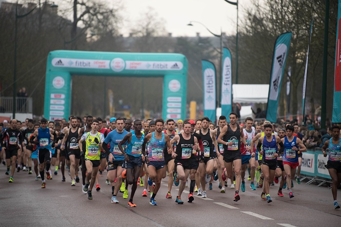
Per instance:
[[[321,149],[315,149],[315,151],[302,152],[302,165],[301,174],[304,175],[301,181],[308,179],[306,184],[312,184],[314,182],[319,183],[318,186],[322,186],[325,183],[331,183],[331,177],[325,165],[328,161],[328,156],[323,157]]]

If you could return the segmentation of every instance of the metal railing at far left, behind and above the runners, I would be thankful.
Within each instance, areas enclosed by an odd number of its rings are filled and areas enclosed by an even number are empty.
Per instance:
[[[13,97],[0,97],[0,113],[13,113]],[[32,97],[16,97],[16,113],[32,113]]]

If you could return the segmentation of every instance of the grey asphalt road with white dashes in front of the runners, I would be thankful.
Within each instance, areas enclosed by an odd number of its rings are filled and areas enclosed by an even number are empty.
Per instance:
[[[278,185],[272,186],[273,202],[269,204],[260,199],[261,189],[251,191],[249,181],[246,181],[246,192],[240,191],[238,202],[233,202],[235,189],[228,188],[223,194],[218,183],[213,182],[213,190],[207,190],[208,198],[195,193],[190,204],[187,202],[189,188],[185,188],[182,195],[185,203],[178,205],[175,203],[177,187],[172,188],[173,199],[165,198],[167,176],[155,197],[158,206],[151,206],[148,197],[141,196],[143,187],[138,186],[133,200],[137,207],[130,208],[122,193],[117,196],[119,204],[111,203],[111,186],[105,185],[105,176],[100,177],[101,191],[93,190],[93,200],[88,200],[81,191],[81,183],[71,187],[67,173],[67,181],[61,181],[60,170],[57,176],[53,175],[53,180],[46,180],[46,189],[41,189],[41,181],[35,181],[34,173],[15,172],[14,182],[8,183],[5,171],[1,164],[0,226],[341,226],[341,210],[334,210],[331,190],[305,182],[294,183],[292,199],[286,189],[283,189],[284,197],[278,197]]]

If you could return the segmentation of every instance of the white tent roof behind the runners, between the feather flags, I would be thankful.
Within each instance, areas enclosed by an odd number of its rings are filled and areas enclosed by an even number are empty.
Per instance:
[[[234,103],[267,103],[268,84],[232,84]]]

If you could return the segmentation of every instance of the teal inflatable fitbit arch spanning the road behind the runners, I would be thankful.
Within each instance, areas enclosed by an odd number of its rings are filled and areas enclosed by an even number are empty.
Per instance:
[[[70,116],[73,75],[162,76],[162,117],[184,119],[187,69],[187,58],[181,54],[52,51],[46,66],[44,117]]]

